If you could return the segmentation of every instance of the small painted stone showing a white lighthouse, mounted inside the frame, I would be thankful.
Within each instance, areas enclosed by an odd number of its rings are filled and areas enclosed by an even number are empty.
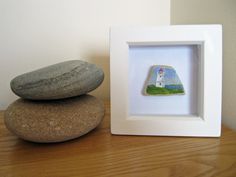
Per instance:
[[[145,95],[184,95],[184,87],[172,66],[154,65],[150,69]]]

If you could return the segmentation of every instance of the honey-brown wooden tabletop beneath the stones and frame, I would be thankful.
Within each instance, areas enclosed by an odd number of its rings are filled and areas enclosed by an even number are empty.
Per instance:
[[[110,106],[102,124],[64,143],[18,139],[0,112],[0,177],[236,177],[236,132],[221,138],[114,136]]]

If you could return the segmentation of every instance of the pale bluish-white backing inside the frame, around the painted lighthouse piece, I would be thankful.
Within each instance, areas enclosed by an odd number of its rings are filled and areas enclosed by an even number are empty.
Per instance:
[[[130,115],[198,115],[199,47],[130,46],[129,114]],[[185,90],[184,95],[144,95],[145,82],[153,65],[172,66]]]

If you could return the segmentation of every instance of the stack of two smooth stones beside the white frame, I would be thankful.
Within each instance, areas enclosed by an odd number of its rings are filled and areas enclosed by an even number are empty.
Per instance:
[[[17,76],[11,81],[11,89],[21,98],[5,111],[5,125],[20,138],[33,142],[80,137],[104,117],[102,101],[87,94],[103,79],[102,69],[80,60]]]

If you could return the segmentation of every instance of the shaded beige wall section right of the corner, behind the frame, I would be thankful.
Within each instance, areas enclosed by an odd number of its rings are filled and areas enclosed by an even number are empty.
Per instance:
[[[172,0],[172,24],[223,25],[223,122],[236,129],[236,0]]]

